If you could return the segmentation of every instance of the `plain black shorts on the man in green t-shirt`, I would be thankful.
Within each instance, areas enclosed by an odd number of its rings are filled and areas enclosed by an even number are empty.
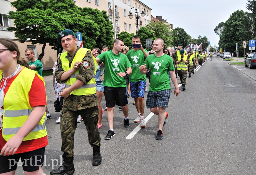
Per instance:
[[[125,106],[128,103],[126,88],[112,88],[104,86],[104,95],[106,100],[106,107]]]

